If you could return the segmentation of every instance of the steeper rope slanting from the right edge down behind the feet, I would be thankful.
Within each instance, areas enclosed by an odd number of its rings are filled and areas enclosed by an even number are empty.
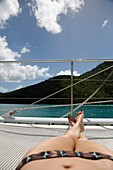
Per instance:
[[[102,86],[105,84],[106,80],[108,80],[112,74],[113,74],[113,71],[108,75],[108,77],[104,80],[104,82],[83,103],[81,103],[79,106],[77,106],[75,109],[73,109],[73,112],[76,111],[77,109],[79,109],[81,106],[83,106],[88,100],[90,100],[102,88]],[[70,113],[71,112],[66,113],[61,118],[68,116]]]

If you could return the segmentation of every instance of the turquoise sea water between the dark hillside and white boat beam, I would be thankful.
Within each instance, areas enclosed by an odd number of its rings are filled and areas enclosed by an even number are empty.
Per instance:
[[[15,116],[22,117],[61,117],[70,111],[70,106],[50,107],[53,105],[33,105],[29,110],[21,110]],[[16,108],[30,107],[30,105],[22,104],[0,104],[0,115]],[[74,106],[74,108],[77,107]],[[79,110],[84,110],[86,118],[113,118],[113,105],[84,105]],[[79,111],[74,112],[74,115]]]

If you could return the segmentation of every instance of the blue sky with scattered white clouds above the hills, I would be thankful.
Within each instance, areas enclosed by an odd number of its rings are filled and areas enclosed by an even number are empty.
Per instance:
[[[0,1],[0,61],[113,59],[113,0]],[[74,75],[98,63],[74,63]],[[0,64],[0,92],[70,74],[70,63]]]

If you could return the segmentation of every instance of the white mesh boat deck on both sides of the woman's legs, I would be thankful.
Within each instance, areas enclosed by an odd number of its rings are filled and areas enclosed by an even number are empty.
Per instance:
[[[64,134],[66,125],[22,125],[0,123],[0,170],[14,170],[23,155],[34,144]],[[85,126],[89,140],[113,150],[113,126]]]

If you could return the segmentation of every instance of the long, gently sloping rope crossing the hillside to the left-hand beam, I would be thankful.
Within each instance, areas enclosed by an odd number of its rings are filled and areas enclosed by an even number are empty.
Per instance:
[[[78,81],[78,82],[76,82],[76,83],[74,83],[74,84],[71,84],[71,85],[69,85],[69,86],[67,86],[67,87],[65,87],[65,88],[63,88],[63,89],[60,89],[59,91],[56,91],[56,92],[54,92],[54,93],[52,93],[52,94],[50,94],[50,95],[48,95],[48,96],[45,96],[45,97],[41,98],[40,100],[37,100],[37,101],[31,103],[31,104],[29,105],[29,107],[32,106],[32,105],[34,105],[34,104],[36,104],[36,103],[39,103],[39,102],[41,102],[41,101],[43,101],[43,100],[45,100],[45,99],[47,99],[47,98],[49,98],[49,97],[51,97],[51,96],[53,96],[53,95],[55,95],[55,94],[58,94],[58,93],[66,90],[66,89],[68,89],[68,88],[70,88],[70,87],[72,87],[72,86],[74,86],[74,85],[76,85],[76,84],[79,84],[79,83],[81,83],[81,82],[83,82],[83,81],[85,81],[85,80],[87,80],[87,79],[89,79],[89,78],[91,78],[91,77],[94,77],[94,76],[96,76],[96,75],[98,75],[98,74],[100,74],[100,73],[102,73],[102,72],[104,72],[104,71],[106,71],[106,70],[109,70],[109,69],[112,68],[112,67],[113,67],[113,65],[110,66],[110,67],[107,67],[107,68],[105,68],[105,69],[103,69],[103,70],[101,70],[101,71],[99,71],[99,72],[97,72],[97,73],[95,73],[95,74],[93,74],[93,75],[90,75],[89,77],[86,77],[86,78],[84,78],[84,79],[82,79],[82,80],[80,80],[80,81]],[[29,107],[24,107],[24,108],[29,108]],[[21,108],[21,109],[17,110],[17,112],[23,110],[24,108]]]

